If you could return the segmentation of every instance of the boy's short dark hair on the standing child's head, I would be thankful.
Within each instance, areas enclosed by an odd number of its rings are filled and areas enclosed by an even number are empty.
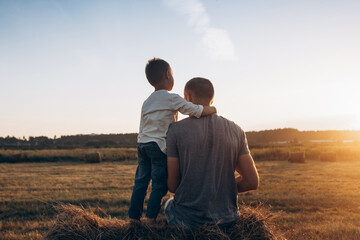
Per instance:
[[[145,67],[146,78],[152,86],[158,84],[170,69],[170,65],[160,58],[152,58]]]

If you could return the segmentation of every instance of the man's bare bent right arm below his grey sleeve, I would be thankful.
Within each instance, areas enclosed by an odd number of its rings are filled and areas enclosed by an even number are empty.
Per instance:
[[[236,178],[238,193],[256,190],[258,188],[259,175],[250,153],[238,157],[236,171],[240,174],[240,176]]]

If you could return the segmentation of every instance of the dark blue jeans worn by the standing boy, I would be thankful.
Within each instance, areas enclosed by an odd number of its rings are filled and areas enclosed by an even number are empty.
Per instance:
[[[146,217],[156,218],[161,208],[161,199],[167,193],[166,155],[155,142],[138,144],[138,167],[135,185],[130,200],[129,217],[140,219],[146,191],[152,179],[152,190],[147,204]]]

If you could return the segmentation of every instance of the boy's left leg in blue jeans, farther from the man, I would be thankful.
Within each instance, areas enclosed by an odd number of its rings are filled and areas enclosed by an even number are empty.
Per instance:
[[[142,215],[144,199],[151,178],[151,160],[145,154],[145,147],[146,144],[138,145],[138,167],[128,211],[131,219],[140,219]]]

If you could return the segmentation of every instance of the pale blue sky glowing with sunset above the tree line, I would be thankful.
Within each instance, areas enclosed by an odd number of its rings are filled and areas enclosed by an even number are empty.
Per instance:
[[[153,57],[245,131],[360,130],[360,1],[1,0],[0,137],[138,132]],[[182,118],[184,118],[183,116]]]

